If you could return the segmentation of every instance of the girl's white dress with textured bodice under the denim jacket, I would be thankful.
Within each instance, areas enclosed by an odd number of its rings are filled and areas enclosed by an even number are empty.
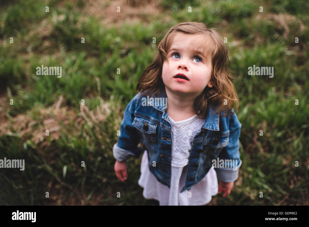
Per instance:
[[[146,199],[158,200],[160,205],[205,205],[211,201],[211,196],[218,193],[218,179],[213,167],[189,191],[180,193],[185,184],[193,138],[205,119],[198,119],[197,115],[176,122],[170,117],[169,119],[172,126],[171,187],[168,188],[158,182],[150,172],[145,150],[141,162],[141,176],[138,180],[138,184],[144,188],[143,196]]]

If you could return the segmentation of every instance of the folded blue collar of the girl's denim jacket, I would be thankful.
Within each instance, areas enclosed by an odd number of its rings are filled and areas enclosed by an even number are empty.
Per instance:
[[[159,95],[155,95],[154,98],[164,98],[164,100],[166,100],[165,98],[167,98],[166,95],[166,91],[165,89],[163,89]],[[158,102],[159,105],[155,106],[152,105],[152,107],[154,107],[155,109],[164,112],[166,111],[166,109],[163,107],[163,105],[161,105],[162,103]],[[167,105],[167,103],[166,103]],[[215,106],[214,105],[210,105],[209,111],[208,111],[208,115],[206,117],[206,120],[202,126],[202,128],[205,129],[209,129],[209,130],[214,130],[214,131],[219,131],[219,113],[214,113],[215,111]]]

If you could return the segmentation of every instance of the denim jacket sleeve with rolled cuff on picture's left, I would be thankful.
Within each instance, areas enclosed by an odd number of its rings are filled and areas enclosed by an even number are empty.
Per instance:
[[[125,108],[120,125],[120,136],[117,143],[113,146],[113,156],[120,162],[126,161],[131,157],[139,158],[143,151],[142,148],[138,147],[140,137],[133,126],[137,96],[138,94],[134,96]]]

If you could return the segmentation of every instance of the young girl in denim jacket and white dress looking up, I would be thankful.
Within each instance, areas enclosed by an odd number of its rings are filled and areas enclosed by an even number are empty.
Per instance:
[[[241,124],[232,109],[238,103],[227,54],[218,32],[197,22],[171,27],[159,43],[113,147],[122,182],[126,160],[144,151],[140,140],[146,147],[138,180],[146,199],[160,205],[205,205],[217,193],[230,194],[241,165]]]

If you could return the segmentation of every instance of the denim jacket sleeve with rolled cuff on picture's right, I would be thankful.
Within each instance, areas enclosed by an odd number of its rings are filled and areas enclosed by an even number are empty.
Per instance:
[[[238,178],[239,167],[241,166],[241,160],[239,154],[239,135],[240,135],[241,124],[235,112],[230,117],[229,128],[230,128],[229,144],[221,150],[218,157],[220,160],[234,159],[234,161],[227,162],[232,164],[232,166],[228,166],[228,168],[214,168],[214,170],[216,170],[218,179],[224,182],[235,181]]]

